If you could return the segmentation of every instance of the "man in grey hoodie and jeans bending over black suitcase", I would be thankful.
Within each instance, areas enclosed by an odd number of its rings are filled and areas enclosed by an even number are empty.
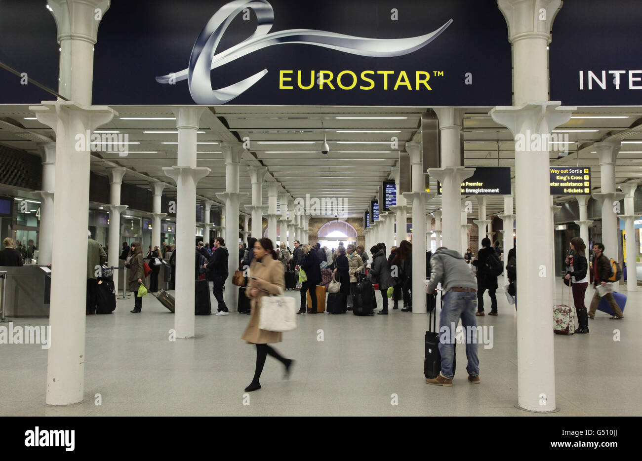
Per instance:
[[[466,342],[468,359],[468,380],[480,383],[479,358],[477,356],[477,321],[475,309],[477,304],[477,283],[464,257],[455,250],[439,247],[430,259],[430,280],[426,281],[426,291],[433,293],[441,282],[444,307],[439,316],[439,353],[442,358],[441,371],[437,378],[426,379],[426,383],[437,386],[453,385],[453,358],[455,356],[455,331],[453,330],[462,318],[464,331],[471,332],[471,342]],[[468,336],[468,335],[465,335]],[[469,338],[467,338],[468,340]]]

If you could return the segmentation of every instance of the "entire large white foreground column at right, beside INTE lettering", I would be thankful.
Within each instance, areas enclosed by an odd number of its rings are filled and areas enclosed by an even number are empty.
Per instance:
[[[517,257],[517,394],[518,406],[532,412],[553,412],[555,355],[550,277],[551,248],[549,146],[550,130],[566,123],[575,108],[548,101],[548,52],[560,0],[498,0],[513,44],[514,107],[495,107],[490,116],[516,137],[517,233],[524,242]],[[542,12],[542,8],[544,11]],[[527,131],[528,130],[528,131]],[[528,134],[528,138],[526,135]],[[532,135],[540,142],[530,142]],[[522,307],[523,306],[523,307]]]

